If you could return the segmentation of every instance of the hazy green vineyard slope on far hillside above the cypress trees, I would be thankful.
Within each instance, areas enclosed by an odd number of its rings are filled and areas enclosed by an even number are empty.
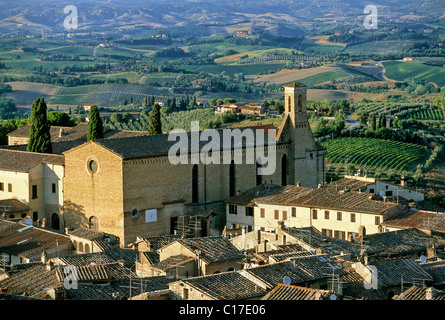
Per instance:
[[[170,96],[167,89],[158,89],[142,84],[98,84],[79,87],[61,87],[51,97],[50,105],[73,105],[97,103],[103,107],[113,107],[124,101],[142,100],[147,96]]]

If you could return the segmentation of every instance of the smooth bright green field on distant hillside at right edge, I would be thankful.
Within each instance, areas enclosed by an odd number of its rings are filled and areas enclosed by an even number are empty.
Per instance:
[[[429,66],[417,62],[385,61],[385,76],[390,79],[405,81],[413,78],[433,82],[439,87],[445,86],[445,68]]]

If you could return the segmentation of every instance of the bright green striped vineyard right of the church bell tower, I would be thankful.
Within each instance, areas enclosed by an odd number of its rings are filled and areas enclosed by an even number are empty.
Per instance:
[[[372,138],[338,138],[321,145],[329,164],[353,164],[361,169],[410,170],[426,155],[419,145]]]

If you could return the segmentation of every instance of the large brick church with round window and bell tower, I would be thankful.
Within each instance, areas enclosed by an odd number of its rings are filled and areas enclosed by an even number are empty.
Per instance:
[[[217,151],[221,159],[239,156],[241,163],[173,164],[169,150],[175,142],[168,134],[100,139],[65,151],[64,227],[111,233],[127,246],[136,237],[178,233],[186,217],[195,217],[195,231],[208,236],[224,227],[224,201],[235,194],[260,184],[299,182],[316,188],[325,181],[326,150],[313,138],[306,92],[306,86],[296,83],[284,87],[285,113],[276,143]],[[258,174],[261,165],[247,161],[258,148],[274,155],[274,172]]]

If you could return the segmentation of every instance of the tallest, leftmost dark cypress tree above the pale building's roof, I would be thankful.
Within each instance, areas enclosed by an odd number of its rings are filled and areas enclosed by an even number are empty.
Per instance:
[[[27,151],[39,153],[53,152],[46,110],[44,98],[38,98],[32,103],[31,128],[29,129]]]

